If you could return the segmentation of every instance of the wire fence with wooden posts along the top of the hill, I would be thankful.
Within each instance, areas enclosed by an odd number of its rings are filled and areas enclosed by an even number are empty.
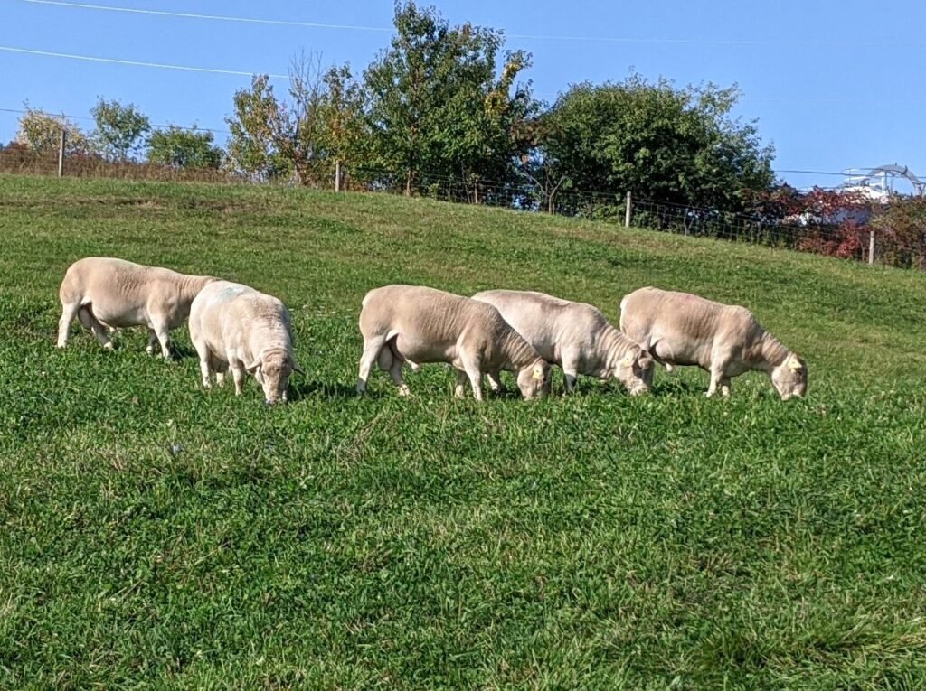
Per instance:
[[[293,185],[282,179],[245,178],[216,168],[171,167],[137,161],[110,162],[82,152],[35,152],[0,148],[0,174],[78,178],[203,181],[231,184]],[[606,221],[619,226],[719,241],[745,242],[797,252],[818,253],[870,264],[926,270],[926,200],[896,198],[886,204],[847,205],[844,210],[769,218],[723,213],[716,209],[670,204],[629,194],[544,190],[527,179],[498,181],[473,175],[457,177],[419,172],[409,181],[377,167],[337,167],[320,163],[302,179],[319,190],[385,192],[456,204],[479,204],[532,213]],[[912,209],[912,211],[911,211]]]

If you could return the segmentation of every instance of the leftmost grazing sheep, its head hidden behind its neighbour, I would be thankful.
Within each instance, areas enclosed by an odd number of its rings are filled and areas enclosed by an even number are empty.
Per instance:
[[[70,265],[58,295],[62,314],[58,348],[68,345],[70,323],[77,316],[103,347],[112,350],[109,334],[118,327],[148,327],[147,352],[170,357],[171,329],[190,315],[190,304],[209,281],[159,266],[144,266],[111,257],[87,257]]]

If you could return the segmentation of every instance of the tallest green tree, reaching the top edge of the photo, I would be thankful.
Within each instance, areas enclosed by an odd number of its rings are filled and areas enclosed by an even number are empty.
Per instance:
[[[534,106],[528,88],[510,90],[530,56],[507,53],[496,78],[499,32],[450,27],[412,2],[395,6],[394,25],[391,47],[364,75],[375,165],[407,194],[448,178],[514,179],[527,151],[519,124]]]

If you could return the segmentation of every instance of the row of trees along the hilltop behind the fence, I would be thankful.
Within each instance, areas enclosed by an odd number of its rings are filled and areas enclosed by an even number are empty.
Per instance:
[[[553,104],[523,80],[532,57],[501,31],[452,26],[400,2],[389,45],[361,73],[296,56],[286,93],[257,75],[233,95],[224,148],[213,132],[155,129],[134,105],[100,99],[94,130],[31,108],[16,145],[111,162],[211,167],[255,180],[367,189],[607,214],[627,191],[669,204],[752,213],[776,186],[755,121],[732,117],[735,86],[677,88],[639,74],[573,84]],[[594,209],[588,197],[597,193]]]

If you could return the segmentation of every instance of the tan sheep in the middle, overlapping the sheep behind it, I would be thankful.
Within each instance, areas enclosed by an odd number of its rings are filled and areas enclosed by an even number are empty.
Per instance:
[[[457,368],[455,394],[462,397],[469,377],[482,401],[482,375],[497,379],[514,372],[525,399],[549,390],[550,365],[510,327],[492,305],[421,286],[385,286],[370,290],[360,312],[363,355],[357,391],[367,389],[369,370],[378,363],[407,396],[402,364],[449,363]]]

